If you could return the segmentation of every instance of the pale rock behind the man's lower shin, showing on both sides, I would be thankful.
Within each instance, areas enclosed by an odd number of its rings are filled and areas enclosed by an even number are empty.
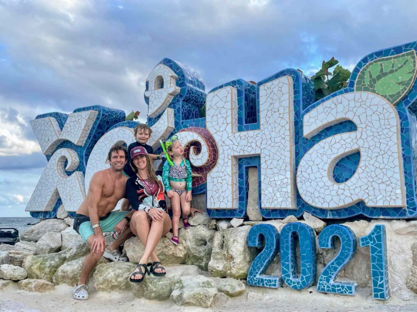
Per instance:
[[[64,263],[56,270],[55,274],[53,274],[52,283],[54,285],[68,284],[74,286],[80,279],[84,259],[85,257]],[[91,270],[89,278],[93,276],[98,265],[109,262],[109,260],[101,257],[95,267]]]

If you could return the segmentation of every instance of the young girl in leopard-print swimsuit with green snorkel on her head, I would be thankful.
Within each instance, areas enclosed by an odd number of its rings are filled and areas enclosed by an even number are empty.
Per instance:
[[[166,145],[168,145],[167,142]],[[178,223],[181,209],[183,210],[184,227],[189,228],[188,216],[190,214],[190,201],[192,199],[192,175],[190,162],[183,157],[184,148],[181,142],[175,140],[166,147],[172,166],[165,162],[162,170],[162,180],[171,201],[172,233],[171,242],[178,245]]]

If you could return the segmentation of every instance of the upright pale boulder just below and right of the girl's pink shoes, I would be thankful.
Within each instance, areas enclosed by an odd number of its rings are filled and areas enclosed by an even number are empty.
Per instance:
[[[187,251],[187,264],[197,265],[200,269],[207,271],[211,259],[211,250],[214,233],[208,225],[192,226],[184,231],[184,245]],[[180,235],[182,238],[183,235]]]

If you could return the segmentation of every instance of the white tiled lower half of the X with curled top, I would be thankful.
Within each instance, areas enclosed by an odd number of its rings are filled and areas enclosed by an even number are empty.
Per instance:
[[[86,196],[84,175],[76,171],[68,176],[65,170],[74,171],[78,164],[78,155],[73,149],[55,151],[29,199],[26,211],[52,211],[58,197],[61,197],[65,210],[76,211]]]

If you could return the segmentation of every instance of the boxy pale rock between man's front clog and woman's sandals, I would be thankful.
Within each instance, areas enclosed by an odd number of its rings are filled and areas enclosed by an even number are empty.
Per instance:
[[[98,291],[130,290],[129,276],[135,270],[130,262],[110,262],[100,264],[93,274],[94,287]]]

